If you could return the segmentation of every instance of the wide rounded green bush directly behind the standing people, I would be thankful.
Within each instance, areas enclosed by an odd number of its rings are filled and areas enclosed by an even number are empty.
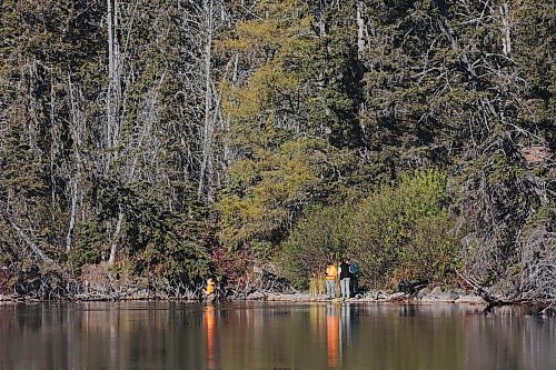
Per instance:
[[[361,282],[391,287],[401,279],[450,281],[459,254],[443,211],[446,177],[429,170],[404,176],[360,201],[312,209],[282,244],[285,273],[307,284],[329,258],[350,256]]]

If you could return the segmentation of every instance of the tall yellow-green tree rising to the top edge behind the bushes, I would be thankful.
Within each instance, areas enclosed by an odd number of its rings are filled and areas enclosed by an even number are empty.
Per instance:
[[[358,182],[363,166],[344,150],[360,144],[360,66],[339,20],[349,7],[329,8],[326,34],[315,33],[311,7],[264,1],[254,7],[260,17],[217,41],[250,69],[246,80],[220,83],[237,153],[217,203],[230,248],[272,256],[306,206],[341,199]]]

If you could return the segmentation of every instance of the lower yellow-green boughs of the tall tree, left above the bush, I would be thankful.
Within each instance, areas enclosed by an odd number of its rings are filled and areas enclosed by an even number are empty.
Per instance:
[[[349,156],[324,140],[306,138],[236,161],[216,204],[221,241],[230,248],[277,244],[305,206],[338,190],[349,163]]]

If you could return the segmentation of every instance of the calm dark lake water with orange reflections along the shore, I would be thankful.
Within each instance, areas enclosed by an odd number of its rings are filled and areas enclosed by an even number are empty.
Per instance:
[[[556,369],[556,320],[456,306],[0,306],[0,369]]]

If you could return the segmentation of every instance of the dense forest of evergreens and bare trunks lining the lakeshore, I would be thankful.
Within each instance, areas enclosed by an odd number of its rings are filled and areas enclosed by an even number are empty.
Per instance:
[[[556,300],[555,30],[550,0],[3,0],[0,293],[349,256]]]

